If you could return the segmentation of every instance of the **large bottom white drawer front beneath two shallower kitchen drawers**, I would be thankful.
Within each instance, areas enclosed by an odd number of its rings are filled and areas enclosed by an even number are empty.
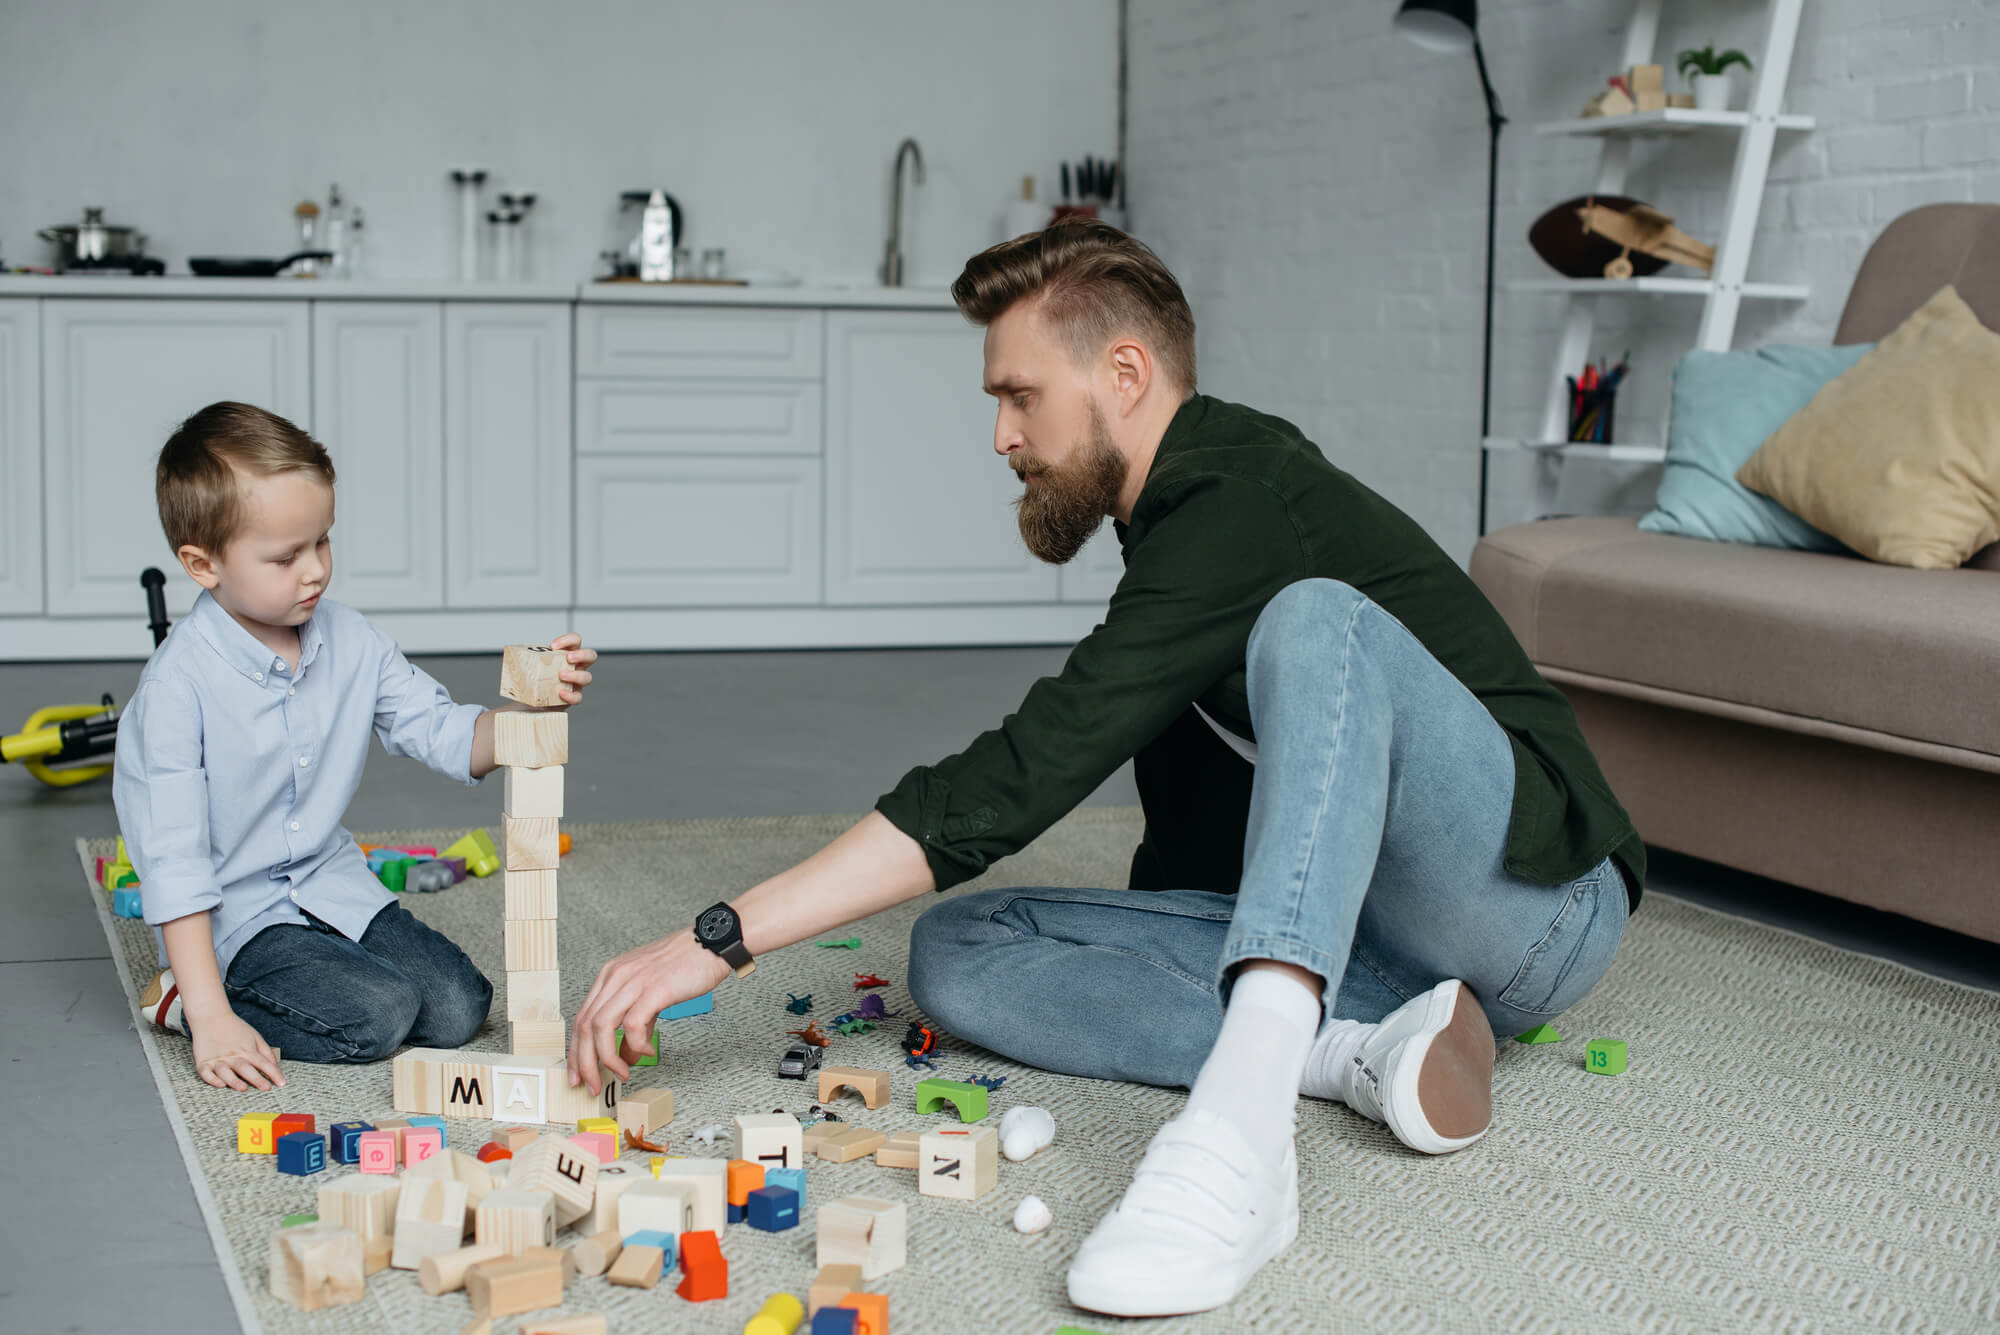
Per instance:
[[[820,462],[580,456],[582,608],[820,602]]]

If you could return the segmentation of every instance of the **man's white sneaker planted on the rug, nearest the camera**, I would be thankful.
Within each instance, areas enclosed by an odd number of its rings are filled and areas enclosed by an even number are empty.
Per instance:
[[[1276,1167],[1214,1113],[1174,1117],[1070,1263],[1070,1301],[1112,1317],[1220,1307],[1298,1237],[1298,1155]]]

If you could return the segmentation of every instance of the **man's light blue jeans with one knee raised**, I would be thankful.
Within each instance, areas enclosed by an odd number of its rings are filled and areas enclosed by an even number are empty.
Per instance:
[[[910,995],[962,1039],[1072,1075],[1192,1085],[1230,969],[1326,979],[1326,1015],[1376,1021],[1464,979],[1500,1039],[1562,1013],[1612,963],[1626,885],[1502,867],[1514,753],[1400,622],[1334,580],[1272,598],[1248,648],[1258,765],[1242,885],[990,889],[910,933]]]

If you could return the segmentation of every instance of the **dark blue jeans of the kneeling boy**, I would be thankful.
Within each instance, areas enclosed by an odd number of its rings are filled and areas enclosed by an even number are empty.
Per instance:
[[[236,951],[222,985],[230,1009],[286,1061],[382,1061],[406,1041],[464,1047],[494,999],[466,953],[400,903],[384,905],[360,941],[318,919],[266,927]]]

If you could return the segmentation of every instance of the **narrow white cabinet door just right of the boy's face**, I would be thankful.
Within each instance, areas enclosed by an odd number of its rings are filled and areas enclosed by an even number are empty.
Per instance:
[[[334,456],[332,596],[362,612],[444,606],[444,310],[314,302],[314,436]]]

